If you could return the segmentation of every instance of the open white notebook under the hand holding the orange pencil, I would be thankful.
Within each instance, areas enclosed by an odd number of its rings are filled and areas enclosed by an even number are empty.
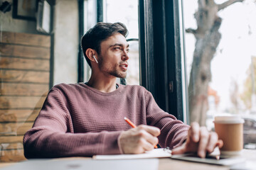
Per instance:
[[[161,158],[171,157],[171,150],[166,148],[153,149],[144,154],[106,154],[95,155],[92,159],[146,159],[146,158]]]

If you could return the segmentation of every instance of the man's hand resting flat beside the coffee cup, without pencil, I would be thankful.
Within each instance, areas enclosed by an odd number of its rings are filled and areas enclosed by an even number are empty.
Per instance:
[[[199,157],[205,158],[206,153],[213,152],[215,147],[223,147],[223,141],[218,140],[217,133],[209,132],[206,127],[200,127],[198,123],[191,123],[186,142],[180,147],[172,149],[171,153],[197,152]]]

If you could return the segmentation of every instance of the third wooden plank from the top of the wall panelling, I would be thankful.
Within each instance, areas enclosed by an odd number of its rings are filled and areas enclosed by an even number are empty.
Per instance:
[[[0,68],[50,71],[50,61],[15,57],[0,57]]]

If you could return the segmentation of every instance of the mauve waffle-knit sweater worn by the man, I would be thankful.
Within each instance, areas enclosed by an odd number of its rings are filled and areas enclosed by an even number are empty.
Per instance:
[[[120,154],[117,139],[135,125],[160,128],[159,145],[177,147],[188,125],[159,108],[142,86],[123,86],[103,93],[86,84],[58,84],[50,89],[33,128],[23,138],[26,158]]]

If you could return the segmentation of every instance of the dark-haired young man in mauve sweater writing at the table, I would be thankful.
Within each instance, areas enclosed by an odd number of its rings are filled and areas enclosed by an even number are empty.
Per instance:
[[[50,89],[33,128],[24,135],[26,158],[139,154],[157,144],[171,147],[173,154],[205,157],[221,147],[215,132],[197,123],[189,127],[162,111],[144,87],[116,84],[117,77],[127,74],[126,35],[122,23],[97,23],[82,37],[90,80]]]

